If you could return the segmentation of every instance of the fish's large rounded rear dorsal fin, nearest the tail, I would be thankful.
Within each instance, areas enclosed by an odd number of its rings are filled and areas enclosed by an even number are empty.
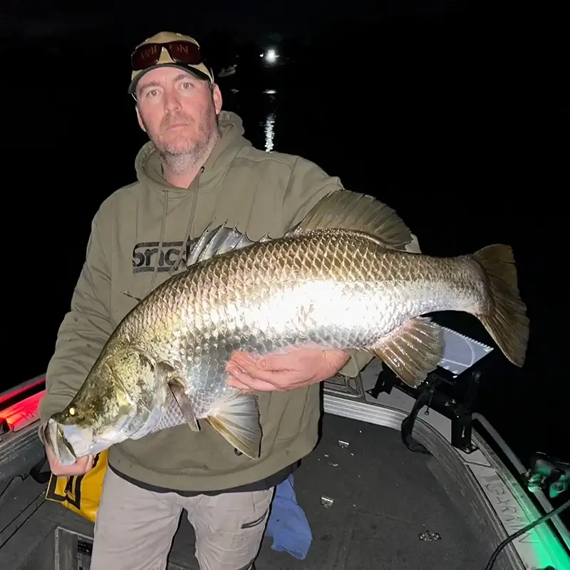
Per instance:
[[[412,241],[410,229],[392,208],[351,190],[336,190],[323,197],[286,235],[299,236],[316,229],[364,232],[393,249],[405,249]]]

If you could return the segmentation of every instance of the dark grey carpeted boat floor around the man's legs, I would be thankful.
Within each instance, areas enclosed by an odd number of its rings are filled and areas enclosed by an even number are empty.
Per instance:
[[[458,509],[442,487],[432,471],[434,457],[410,452],[399,432],[390,427],[325,414],[322,432],[316,450],[295,474],[297,501],[313,534],[309,554],[301,561],[276,552],[271,549],[272,539],[266,538],[257,570],[484,568],[489,545],[481,544],[470,528],[470,505]],[[53,569],[53,554],[48,553],[53,553],[58,527],[91,536],[92,525],[86,520],[43,501],[43,486],[31,477],[16,480],[11,487],[6,489],[9,502],[0,499],[0,529],[10,526],[11,511],[21,510],[18,502],[30,506],[20,517],[18,531],[9,539],[6,534],[0,537],[0,543],[8,539],[1,551],[2,567]],[[32,497],[37,497],[36,502]],[[322,497],[332,499],[332,504],[325,506]],[[4,533],[8,532],[6,528]],[[440,539],[420,539],[425,532],[437,533]],[[71,540],[73,550],[81,551],[73,533],[60,536],[60,541]],[[169,568],[198,570],[193,553],[192,527],[181,517]],[[61,570],[88,568],[88,556],[83,562],[75,558],[60,566]]]

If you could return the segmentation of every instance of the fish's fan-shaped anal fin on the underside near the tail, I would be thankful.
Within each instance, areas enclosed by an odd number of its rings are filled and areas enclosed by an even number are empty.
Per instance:
[[[442,358],[442,331],[430,318],[411,318],[373,351],[403,382],[417,388]]]

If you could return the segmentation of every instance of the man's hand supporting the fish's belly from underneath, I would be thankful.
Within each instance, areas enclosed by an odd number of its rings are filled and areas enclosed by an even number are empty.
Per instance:
[[[231,375],[228,383],[244,392],[294,390],[331,378],[349,358],[351,356],[344,351],[313,348],[257,359],[245,352],[235,352],[226,366]]]

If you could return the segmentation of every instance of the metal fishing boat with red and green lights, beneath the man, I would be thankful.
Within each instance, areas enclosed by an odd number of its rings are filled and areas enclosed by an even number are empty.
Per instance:
[[[418,389],[377,358],[356,379],[323,383],[322,435],[294,472],[311,548],[298,559],[266,537],[257,570],[570,569],[559,516],[570,501],[551,504],[570,465],[541,454],[522,465],[470,409],[492,348],[445,334],[444,358]],[[446,393],[454,383],[467,385],[462,401]],[[0,394],[0,568],[88,570],[93,524],[46,499],[46,477],[34,473],[44,393],[38,376]],[[169,570],[198,569],[193,536],[181,517]]]

